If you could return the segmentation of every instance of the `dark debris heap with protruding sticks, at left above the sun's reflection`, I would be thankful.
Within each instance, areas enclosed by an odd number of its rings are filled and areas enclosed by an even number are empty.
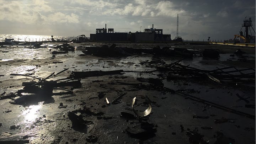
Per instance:
[[[81,87],[80,80],[74,80],[74,79],[68,79],[66,81],[62,81],[62,79],[55,80],[55,81],[47,81],[47,79],[56,77],[60,73],[63,73],[68,69],[64,69],[60,71],[59,73],[55,74],[52,73],[46,78],[37,78],[31,75],[23,75],[23,74],[10,74],[15,76],[29,76],[34,79],[37,79],[39,81],[33,81],[33,82],[23,82],[22,86],[23,89],[18,90],[15,93],[9,93],[7,95],[2,95],[0,98],[6,99],[11,98],[12,101],[10,103],[12,104],[27,104],[33,101],[40,101],[40,100],[46,100],[49,99],[53,95],[64,95],[64,94],[72,94],[72,90],[74,88]],[[65,92],[59,92],[59,93],[53,93],[53,89],[57,87],[72,87],[71,90],[65,91]],[[19,96],[18,98],[14,99],[15,97]]]

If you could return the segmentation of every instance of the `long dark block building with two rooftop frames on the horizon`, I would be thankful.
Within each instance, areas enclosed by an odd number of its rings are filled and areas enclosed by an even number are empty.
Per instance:
[[[91,41],[123,41],[123,42],[167,42],[171,34],[163,34],[162,29],[145,28],[144,32],[114,32],[114,28],[97,28],[95,34],[90,34]]]

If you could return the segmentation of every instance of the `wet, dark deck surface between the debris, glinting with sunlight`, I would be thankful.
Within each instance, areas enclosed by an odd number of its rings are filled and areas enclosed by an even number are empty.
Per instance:
[[[92,46],[92,44],[100,46],[100,43],[73,44],[73,46]],[[166,44],[117,45],[136,48],[153,48],[154,45],[166,46]],[[216,45],[174,45],[172,47],[185,47],[198,51],[203,49],[218,49],[220,51],[218,59],[193,57],[182,60],[182,65],[190,65],[204,70],[227,66],[235,66],[238,69],[255,69],[255,48]],[[230,54],[233,54],[238,48],[246,52],[244,57],[236,55],[231,57]],[[37,81],[30,77],[10,76],[10,74],[31,73],[33,76],[45,78],[53,72],[58,73],[64,68],[68,68],[64,73],[49,79],[57,80],[68,77],[71,71],[124,70],[137,72],[82,78],[82,86],[72,90],[73,94],[57,95],[58,92],[71,90],[71,87],[60,87],[53,90],[56,95],[52,97],[32,98],[33,100],[30,102],[21,105],[11,104],[12,100],[10,99],[0,100],[0,123],[2,124],[0,133],[11,133],[10,136],[0,135],[0,142],[30,140],[30,143],[90,143],[86,137],[94,134],[97,137],[95,143],[191,143],[191,139],[194,137],[191,138],[189,133],[198,128],[194,133],[201,135],[202,139],[208,141],[209,144],[218,142],[220,139],[228,140],[228,142],[234,140],[238,144],[255,143],[255,117],[249,118],[213,107],[202,101],[191,100],[188,96],[159,89],[148,82],[138,81],[137,78],[157,78],[162,80],[166,88],[254,116],[255,107],[247,108],[245,105],[255,105],[255,80],[239,86],[218,84],[211,80],[200,82],[188,78],[166,80],[168,73],[165,71],[143,73],[146,70],[155,70],[155,67],[146,67],[140,62],[161,59],[170,64],[182,58],[154,55],[102,58],[91,55],[81,56],[82,49],[83,47],[78,47],[74,52],[56,54],[56,57],[53,58],[48,48],[31,49],[24,46],[1,48],[1,50],[9,52],[0,53],[0,75],[4,75],[0,77],[0,94],[23,89],[22,82]],[[138,88],[128,85],[138,83],[142,83],[146,87]],[[103,98],[98,97],[99,92],[105,94]],[[112,101],[123,92],[126,94],[116,104],[106,104],[105,97]],[[236,94],[247,98],[249,103],[240,100]],[[148,105],[143,103],[144,95],[147,95],[153,102],[152,111],[148,116],[135,120],[120,117],[121,112],[134,114],[131,106],[133,97],[137,97],[138,100],[135,108],[145,110]],[[60,108],[60,103],[66,107]],[[84,129],[72,127],[68,112],[83,110],[85,107],[94,113],[103,112],[103,118],[83,113],[82,118],[85,121],[92,121],[92,123],[87,124]],[[195,115],[204,118],[193,117]],[[224,123],[216,123],[216,119],[228,120]],[[153,124],[156,132],[153,135],[149,134],[149,137],[134,137],[128,134],[127,127],[140,127],[142,121]],[[19,127],[10,129],[10,126],[13,125]],[[207,129],[206,127],[212,128]],[[194,141],[196,140],[198,139],[195,138]]]

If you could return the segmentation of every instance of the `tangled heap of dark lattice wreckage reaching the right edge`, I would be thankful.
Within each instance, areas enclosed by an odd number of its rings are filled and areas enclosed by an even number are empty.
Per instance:
[[[255,81],[255,69],[246,68],[238,70],[234,66],[229,66],[225,68],[217,68],[214,70],[202,70],[193,68],[189,65],[182,65],[179,63],[180,61],[157,66],[157,68],[161,71],[169,71],[169,77],[172,76],[187,76],[188,78],[197,78],[197,79],[210,79],[219,84],[222,83],[233,83],[238,84],[247,81]]]

